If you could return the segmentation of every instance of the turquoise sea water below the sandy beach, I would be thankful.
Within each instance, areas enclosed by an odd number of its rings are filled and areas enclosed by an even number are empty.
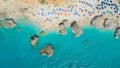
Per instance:
[[[21,31],[17,31],[21,28]],[[66,35],[58,31],[40,36],[40,28],[25,21],[13,29],[0,28],[0,68],[120,68],[120,39],[114,32],[92,26],[83,27],[83,35],[75,38],[68,28]],[[30,36],[40,36],[38,45],[30,45]],[[40,55],[46,44],[52,44],[54,55]]]

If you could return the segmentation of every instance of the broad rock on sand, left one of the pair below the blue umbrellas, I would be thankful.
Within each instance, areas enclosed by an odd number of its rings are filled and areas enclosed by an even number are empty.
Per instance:
[[[90,24],[94,27],[101,28],[102,27],[101,18],[102,18],[102,15],[94,16],[91,19]]]

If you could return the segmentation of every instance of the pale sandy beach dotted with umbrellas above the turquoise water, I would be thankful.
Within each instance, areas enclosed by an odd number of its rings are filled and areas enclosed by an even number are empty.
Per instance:
[[[58,24],[63,19],[68,20],[66,23],[67,26],[69,26],[74,20],[76,20],[80,26],[87,26],[90,25],[90,20],[95,15],[100,15],[107,10],[113,11],[110,7],[101,11],[96,9],[97,4],[99,4],[102,0],[45,0],[44,3],[41,1],[42,0],[0,0],[0,19],[16,19],[24,16],[25,18],[33,20],[42,30],[54,30],[58,29]],[[83,4],[84,2],[90,3],[92,7]],[[119,0],[115,1],[117,4],[119,4],[119,2]],[[69,6],[76,10],[76,15],[74,15],[74,12],[69,12]],[[82,10],[78,10],[76,6],[82,8]],[[58,11],[58,8],[62,8],[62,11],[64,12]],[[54,11],[54,15],[47,15],[49,11]],[[91,12],[91,16],[87,14],[88,11]],[[45,13],[44,16],[41,15],[42,12]],[[103,22],[106,17],[117,19],[116,16],[117,14],[114,13],[113,15],[104,14],[101,22]]]

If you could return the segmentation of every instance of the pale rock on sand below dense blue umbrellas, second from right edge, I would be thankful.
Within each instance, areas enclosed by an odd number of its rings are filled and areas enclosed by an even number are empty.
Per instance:
[[[115,26],[117,26],[117,23],[113,19],[105,18],[103,26],[104,28],[107,28],[107,29],[114,29]]]

